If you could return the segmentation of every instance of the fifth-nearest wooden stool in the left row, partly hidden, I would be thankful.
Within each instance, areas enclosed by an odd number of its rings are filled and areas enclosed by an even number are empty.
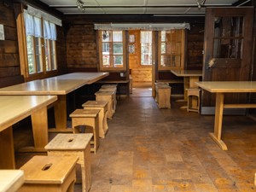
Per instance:
[[[113,117],[113,96],[114,90],[99,90],[95,93],[96,101],[105,101],[108,102],[108,119],[112,119]]]

